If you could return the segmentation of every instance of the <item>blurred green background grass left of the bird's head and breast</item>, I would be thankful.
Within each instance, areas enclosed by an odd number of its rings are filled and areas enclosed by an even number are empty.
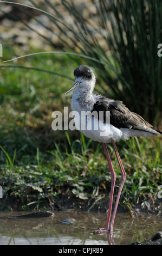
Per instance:
[[[13,52],[4,52],[7,59],[13,55]],[[65,137],[51,130],[51,113],[55,110],[63,112],[64,106],[70,106],[70,98],[65,97],[64,93],[74,83],[73,69],[79,60],[75,58],[73,62],[67,56],[47,54],[19,60],[18,63],[12,64],[14,68],[1,68],[0,145],[7,152],[13,153],[16,148],[17,159],[28,154],[33,155],[35,159],[37,148],[53,149],[54,142],[51,144],[51,141],[60,141],[60,137]],[[16,65],[38,67],[60,75],[15,68]],[[67,75],[69,78],[61,75]]]

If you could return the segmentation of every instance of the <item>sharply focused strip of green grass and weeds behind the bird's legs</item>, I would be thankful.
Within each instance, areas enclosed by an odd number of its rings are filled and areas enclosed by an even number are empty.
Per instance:
[[[67,141],[69,148],[60,150],[60,145],[55,144],[54,149],[48,151],[48,160],[44,160],[37,149],[37,163],[28,165],[15,164],[15,155],[9,156],[1,147],[6,161],[1,166],[0,180],[4,197],[16,197],[24,210],[30,209],[30,206],[34,209],[60,206],[62,198],[78,198],[85,200],[85,204],[89,201],[89,209],[92,209],[96,202],[107,197],[111,175],[101,144],[96,144],[94,149],[92,141],[85,141],[81,134],[80,139],[72,142],[67,133]],[[123,164],[127,179],[121,202],[126,200],[132,204],[148,196],[154,197],[162,179],[161,141],[135,138],[126,143],[128,147],[124,142],[122,144],[121,157],[125,159]],[[111,146],[109,149],[113,152]],[[111,157],[116,172],[116,194],[120,170],[114,153]],[[66,209],[66,203],[63,208]]]

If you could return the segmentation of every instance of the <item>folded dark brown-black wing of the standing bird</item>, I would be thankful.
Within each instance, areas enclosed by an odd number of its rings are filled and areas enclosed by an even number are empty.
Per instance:
[[[101,95],[94,95],[96,100],[92,110],[99,113],[103,111],[103,121],[106,121],[106,111],[110,112],[110,124],[117,128],[143,130],[152,125],[147,123],[140,115],[129,111],[122,101],[107,99]],[[98,114],[99,117],[99,114]]]

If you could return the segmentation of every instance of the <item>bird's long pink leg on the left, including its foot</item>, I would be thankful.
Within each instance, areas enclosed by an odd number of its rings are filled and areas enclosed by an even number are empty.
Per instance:
[[[109,222],[110,222],[111,212],[112,212],[113,195],[114,195],[114,187],[115,187],[115,181],[116,181],[116,174],[114,172],[114,168],[113,168],[113,165],[112,165],[111,158],[110,158],[110,156],[108,154],[106,143],[103,143],[103,148],[105,150],[107,162],[108,162],[109,169],[110,169],[110,172],[111,172],[111,194],[110,194],[110,200],[109,200],[109,208],[108,208],[108,216],[107,216],[106,227],[103,228],[103,229],[99,228],[98,230],[94,231],[94,234],[96,234],[96,233],[100,234],[100,233],[103,233],[103,232],[107,233],[109,231],[112,231],[112,230],[109,230]]]

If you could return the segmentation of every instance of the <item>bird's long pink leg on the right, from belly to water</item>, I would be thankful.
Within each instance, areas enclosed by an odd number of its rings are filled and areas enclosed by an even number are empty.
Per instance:
[[[117,196],[117,198],[116,198],[116,203],[115,203],[115,207],[114,207],[114,212],[113,212],[113,216],[112,216],[111,225],[110,225],[110,227],[109,227],[109,230],[110,230],[110,231],[113,230],[113,227],[114,227],[114,220],[115,220],[116,210],[117,210],[117,208],[118,208],[118,203],[119,203],[119,199],[120,199],[122,187],[123,187],[124,182],[125,182],[125,180],[126,180],[126,172],[125,172],[125,170],[124,170],[124,167],[122,166],[122,162],[121,162],[121,159],[120,159],[120,156],[119,156],[119,153],[118,153],[118,149],[116,148],[116,144],[115,144],[115,142],[113,141],[113,139],[112,139],[112,144],[113,144],[113,148],[114,148],[114,150],[115,150],[115,154],[116,154],[116,157],[117,157],[117,160],[118,160],[120,169],[121,169],[121,181],[120,181],[118,196]]]

